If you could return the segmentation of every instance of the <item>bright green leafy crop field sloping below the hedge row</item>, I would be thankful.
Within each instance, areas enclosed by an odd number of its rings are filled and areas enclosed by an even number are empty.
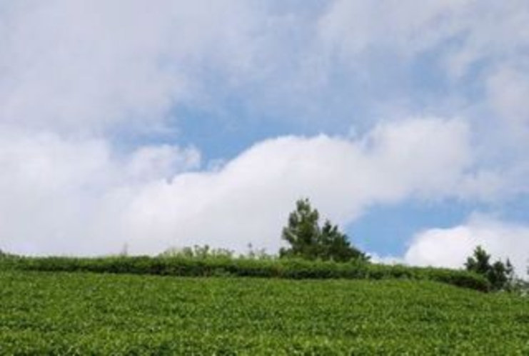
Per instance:
[[[529,355],[529,300],[417,280],[0,271],[0,355]]]

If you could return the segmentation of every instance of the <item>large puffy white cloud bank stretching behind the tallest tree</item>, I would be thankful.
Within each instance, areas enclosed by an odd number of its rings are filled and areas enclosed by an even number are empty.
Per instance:
[[[271,139],[203,172],[186,172],[195,149],[119,157],[103,141],[3,137],[0,245],[24,253],[101,254],[125,243],[134,253],[206,243],[244,251],[250,242],[276,252],[299,197],[346,224],[371,204],[450,196],[470,163],[467,128],[444,119],[381,124],[357,141]]]

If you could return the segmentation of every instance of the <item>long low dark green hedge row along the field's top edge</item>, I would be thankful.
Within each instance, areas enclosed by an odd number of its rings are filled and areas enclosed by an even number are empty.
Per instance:
[[[249,259],[231,257],[12,257],[0,267],[48,272],[129,273],[182,277],[271,277],[288,279],[409,279],[433,280],[473,290],[488,291],[484,277],[463,270],[371,264],[323,262],[303,259]]]

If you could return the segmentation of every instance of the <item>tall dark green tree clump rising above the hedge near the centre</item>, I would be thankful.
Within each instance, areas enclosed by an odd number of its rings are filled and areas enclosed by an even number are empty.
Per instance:
[[[288,224],[283,228],[283,239],[290,247],[282,248],[280,257],[333,259],[338,262],[368,260],[366,254],[351,246],[347,235],[340,232],[338,226],[326,220],[320,227],[319,219],[318,210],[311,207],[308,199],[298,200],[296,210],[291,212]]]

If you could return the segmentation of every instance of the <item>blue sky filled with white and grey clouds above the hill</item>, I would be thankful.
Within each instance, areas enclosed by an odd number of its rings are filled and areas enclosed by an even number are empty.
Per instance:
[[[526,0],[0,1],[0,249],[529,264]]]

